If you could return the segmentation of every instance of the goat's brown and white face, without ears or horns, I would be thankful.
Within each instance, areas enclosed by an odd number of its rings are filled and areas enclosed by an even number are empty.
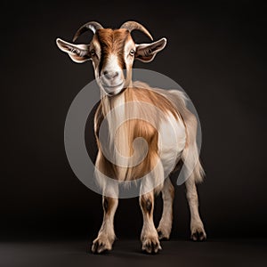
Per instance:
[[[90,44],[96,80],[109,95],[120,93],[131,81],[135,44],[125,28],[100,28]]]

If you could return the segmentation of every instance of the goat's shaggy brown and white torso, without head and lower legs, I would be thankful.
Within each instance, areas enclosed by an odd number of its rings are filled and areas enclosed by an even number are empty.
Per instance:
[[[142,82],[134,82],[131,87],[127,87],[124,92],[112,98],[104,96],[94,117],[94,131],[100,149],[96,168],[113,179],[131,181],[142,178],[157,166],[153,172],[153,182],[157,186],[156,191],[159,191],[166,175],[174,170],[181,159],[186,158],[186,155],[182,154],[183,151],[187,151],[186,148],[191,149],[190,158],[187,158],[186,163],[189,166],[194,163],[196,165],[197,161],[194,161],[194,158],[198,158],[198,150],[194,143],[195,138],[190,136],[197,134],[197,120],[186,108],[185,101],[186,97],[181,91],[150,88]],[[127,107],[125,103],[129,102],[133,104]],[[114,155],[112,158],[115,159],[113,163],[103,155],[99,142],[100,125],[110,110],[115,110],[108,134],[108,146],[109,150],[112,150],[109,155]],[[130,115],[127,116],[127,113]],[[117,117],[120,117],[124,124],[115,129],[117,133],[114,135],[111,133],[115,133],[115,130],[110,128],[116,125],[114,121]],[[128,117],[132,119],[127,119]],[[142,119],[139,119],[141,117]],[[144,152],[142,146],[133,148],[134,140],[140,137],[148,142],[149,150],[142,162],[133,166],[131,156],[134,153],[142,156]],[[115,150],[127,158],[124,166],[121,166],[119,158],[116,158]],[[197,175],[194,175],[194,179],[196,182],[201,182],[204,172],[199,164],[196,167]],[[104,179],[101,177],[98,179],[104,188]]]

